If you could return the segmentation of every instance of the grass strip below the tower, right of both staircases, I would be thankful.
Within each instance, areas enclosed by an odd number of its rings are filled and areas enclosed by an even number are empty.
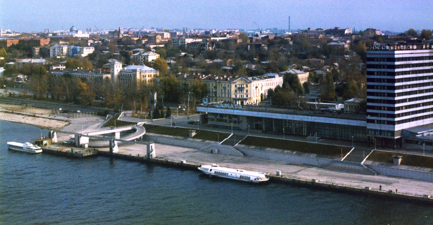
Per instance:
[[[420,155],[410,155],[410,154],[383,152],[383,151],[375,150],[373,151],[373,153],[370,154],[367,160],[393,163],[392,156],[395,155],[402,156],[400,165],[422,166],[422,167],[433,168],[433,157],[426,157]]]

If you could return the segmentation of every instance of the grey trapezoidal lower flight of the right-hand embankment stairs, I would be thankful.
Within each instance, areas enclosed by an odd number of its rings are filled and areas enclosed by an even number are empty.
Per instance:
[[[364,164],[355,162],[333,160],[330,163],[326,163],[318,167],[328,170],[338,170],[345,173],[359,173],[374,176],[378,175],[374,170],[364,166]]]

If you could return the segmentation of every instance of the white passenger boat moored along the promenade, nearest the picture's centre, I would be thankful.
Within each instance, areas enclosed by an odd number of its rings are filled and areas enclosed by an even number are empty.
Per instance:
[[[218,177],[242,180],[242,181],[247,181],[252,183],[264,182],[269,179],[268,177],[266,177],[266,173],[231,169],[227,167],[218,166],[218,164],[204,165],[198,167],[198,169],[209,176],[218,176]]]

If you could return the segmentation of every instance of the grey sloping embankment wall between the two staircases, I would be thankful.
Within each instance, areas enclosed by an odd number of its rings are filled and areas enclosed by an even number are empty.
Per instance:
[[[251,148],[245,148],[245,147],[235,147],[235,148],[237,150],[241,151],[242,153],[245,153],[246,155],[252,156],[252,157],[259,157],[259,158],[265,158],[265,159],[270,159],[270,160],[288,161],[291,163],[301,163],[301,164],[308,164],[308,165],[313,165],[313,166],[319,166],[319,165],[323,165],[326,163],[332,163],[334,161],[334,159],[307,157],[307,156],[301,156],[301,155],[293,155],[293,154],[288,154],[288,153],[278,153],[278,152],[251,149]]]

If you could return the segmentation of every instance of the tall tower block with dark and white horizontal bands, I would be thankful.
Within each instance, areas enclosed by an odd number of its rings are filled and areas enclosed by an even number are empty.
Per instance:
[[[381,45],[367,50],[367,135],[401,144],[402,130],[433,128],[433,46]]]

